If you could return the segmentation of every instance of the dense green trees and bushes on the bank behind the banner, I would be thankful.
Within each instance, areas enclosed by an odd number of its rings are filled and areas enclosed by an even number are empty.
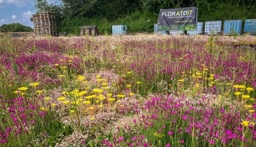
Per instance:
[[[97,26],[111,34],[111,26],[123,24],[128,33],[152,33],[158,13],[164,8],[196,6],[198,21],[256,19],[254,0],[60,0],[49,4],[35,0],[37,12],[56,14],[58,33],[79,35],[81,26]]]

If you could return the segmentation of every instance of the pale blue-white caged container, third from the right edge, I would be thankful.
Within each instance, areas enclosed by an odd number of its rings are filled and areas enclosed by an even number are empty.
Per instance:
[[[217,35],[221,32],[221,20],[205,22],[204,33],[206,35]]]

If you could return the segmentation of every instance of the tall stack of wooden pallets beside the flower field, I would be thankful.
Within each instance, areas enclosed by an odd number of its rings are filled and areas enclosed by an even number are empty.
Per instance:
[[[41,12],[33,15],[35,36],[57,36],[54,13]]]

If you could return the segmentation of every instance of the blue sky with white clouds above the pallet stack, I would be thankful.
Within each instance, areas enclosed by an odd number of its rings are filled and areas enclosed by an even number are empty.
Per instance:
[[[60,0],[47,0],[49,4]],[[20,23],[34,28],[31,17],[36,13],[35,0],[0,0],[0,26]]]

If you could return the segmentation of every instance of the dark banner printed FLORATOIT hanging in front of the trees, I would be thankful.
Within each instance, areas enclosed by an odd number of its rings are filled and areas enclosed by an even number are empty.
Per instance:
[[[157,24],[162,30],[193,30],[196,22],[196,7],[188,7],[160,10]]]

